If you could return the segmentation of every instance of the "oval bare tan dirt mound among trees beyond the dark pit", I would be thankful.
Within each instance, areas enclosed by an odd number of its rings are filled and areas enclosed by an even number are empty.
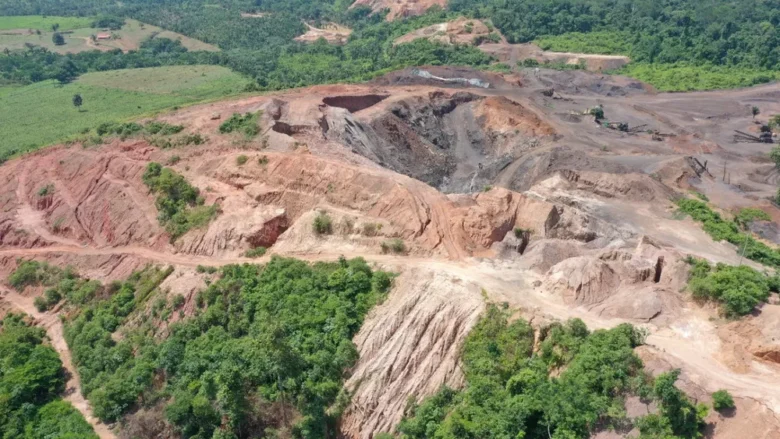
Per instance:
[[[434,24],[396,39],[393,44],[406,44],[412,41],[425,38],[434,43],[447,45],[453,44],[476,44],[488,37],[491,33],[499,36],[502,42],[506,39],[500,35],[492,26],[488,26],[482,20],[473,18],[459,17],[446,23]]]

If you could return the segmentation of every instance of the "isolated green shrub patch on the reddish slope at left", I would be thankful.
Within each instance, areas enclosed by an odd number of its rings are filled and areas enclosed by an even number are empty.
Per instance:
[[[157,194],[155,205],[160,212],[158,220],[175,240],[190,229],[206,226],[218,214],[218,206],[204,205],[200,190],[190,185],[180,174],[159,163],[149,163],[143,181]]]

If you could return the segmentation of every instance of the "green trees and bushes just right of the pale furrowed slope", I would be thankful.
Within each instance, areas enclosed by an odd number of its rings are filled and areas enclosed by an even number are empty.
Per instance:
[[[642,437],[698,438],[707,408],[675,387],[679,371],[647,375],[629,324],[589,332],[578,319],[534,330],[489,305],[463,346],[466,386],[413,402],[398,427],[407,439],[583,438],[594,429],[638,427]],[[658,414],[631,421],[624,400],[652,398]],[[632,425],[633,424],[633,425]]]

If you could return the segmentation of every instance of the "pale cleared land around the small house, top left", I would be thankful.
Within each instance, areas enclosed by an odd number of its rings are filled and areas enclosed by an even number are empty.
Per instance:
[[[3,18],[18,18],[18,17],[0,17]],[[55,20],[56,21],[56,20]],[[189,50],[198,51],[218,51],[219,48],[211,44],[206,44],[202,41],[194,38],[189,38],[176,32],[166,31],[157,26],[141,23],[136,20],[127,20],[125,25],[120,30],[109,31],[105,29],[96,29],[89,27],[90,20],[86,19],[86,23],[74,23],[78,25],[77,28],[71,28],[65,32],[60,25],[60,33],[65,38],[65,44],[57,46],[52,41],[51,25],[49,27],[40,28],[42,32],[40,34],[30,27],[15,27],[11,30],[0,30],[0,50],[19,50],[24,49],[26,45],[32,44],[35,46],[45,47],[52,52],[57,53],[78,53],[87,50],[115,50],[120,49],[123,52],[130,50],[136,50],[140,47],[141,42],[148,38],[170,38],[172,40],[181,41],[182,45]],[[13,25],[13,22],[7,24]],[[0,21],[0,28],[2,28],[2,21]],[[110,34],[111,39],[105,40],[92,40],[93,35],[98,34]]]

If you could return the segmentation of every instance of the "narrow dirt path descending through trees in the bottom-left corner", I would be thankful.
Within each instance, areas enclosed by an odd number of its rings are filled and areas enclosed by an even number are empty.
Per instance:
[[[0,287],[0,294],[2,294],[0,299],[30,315],[35,319],[35,323],[38,326],[46,329],[46,335],[49,337],[49,340],[51,340],[54,350],[60,355],[62,366],[68,371],[69,375],[68,382],[65,385],[63,399],[73,404],[73,406],[81,412],[100,439],[116,439],[116,436],[108,426],[100,422],[100,420],[92,414],[92,408],[89,406],[89,402],[84,398],[84,395],[81,394],[81,381],[76,368],[73,366],[70,350],[68,349],[68,344],[65,342],[62,322],[60,321],[59,315],[56,313],[38,312],[33,304],[32,297],[24,297],[5,287]]]

